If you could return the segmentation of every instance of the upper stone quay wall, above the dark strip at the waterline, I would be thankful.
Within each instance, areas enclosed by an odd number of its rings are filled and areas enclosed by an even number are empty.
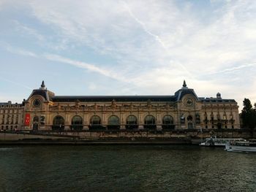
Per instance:
[[[207,129],[207,130],[173,130],[173,131],[18,131],[1,132],[0,141],[26,139],[55,139],[76,141],[154,141],[154,140],[186,140],[200,142],[208,137],[256,139],[256,130],[249,129]]]

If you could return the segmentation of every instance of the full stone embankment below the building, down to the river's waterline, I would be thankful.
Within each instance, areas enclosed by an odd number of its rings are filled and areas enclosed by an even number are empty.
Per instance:
[[[256,138],[256,130],[254,133],[248,129],[207,129],[203,131],[1,131],[0,145],[197,145],[207,137],[252,139],[252,137]]]

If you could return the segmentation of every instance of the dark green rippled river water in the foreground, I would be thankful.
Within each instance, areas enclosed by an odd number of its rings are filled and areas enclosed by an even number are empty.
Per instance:
[[[189,145],[0,146],[0,191],[256,191],[256,154]]]

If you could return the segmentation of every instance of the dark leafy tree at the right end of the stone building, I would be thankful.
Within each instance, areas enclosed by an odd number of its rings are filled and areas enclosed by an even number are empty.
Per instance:
[[[252,108],[251,101],[249,99],[244,99],[244,108],[241,112],[241,119],[243,121],[244,128],[250,128],[252,130],[256,126],[256,104],[255,109]]]

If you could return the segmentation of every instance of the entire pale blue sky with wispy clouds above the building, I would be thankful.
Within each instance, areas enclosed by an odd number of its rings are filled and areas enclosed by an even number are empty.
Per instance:
[[[56,95],[256,102],[256,1],[0,0],[0,102]]]

